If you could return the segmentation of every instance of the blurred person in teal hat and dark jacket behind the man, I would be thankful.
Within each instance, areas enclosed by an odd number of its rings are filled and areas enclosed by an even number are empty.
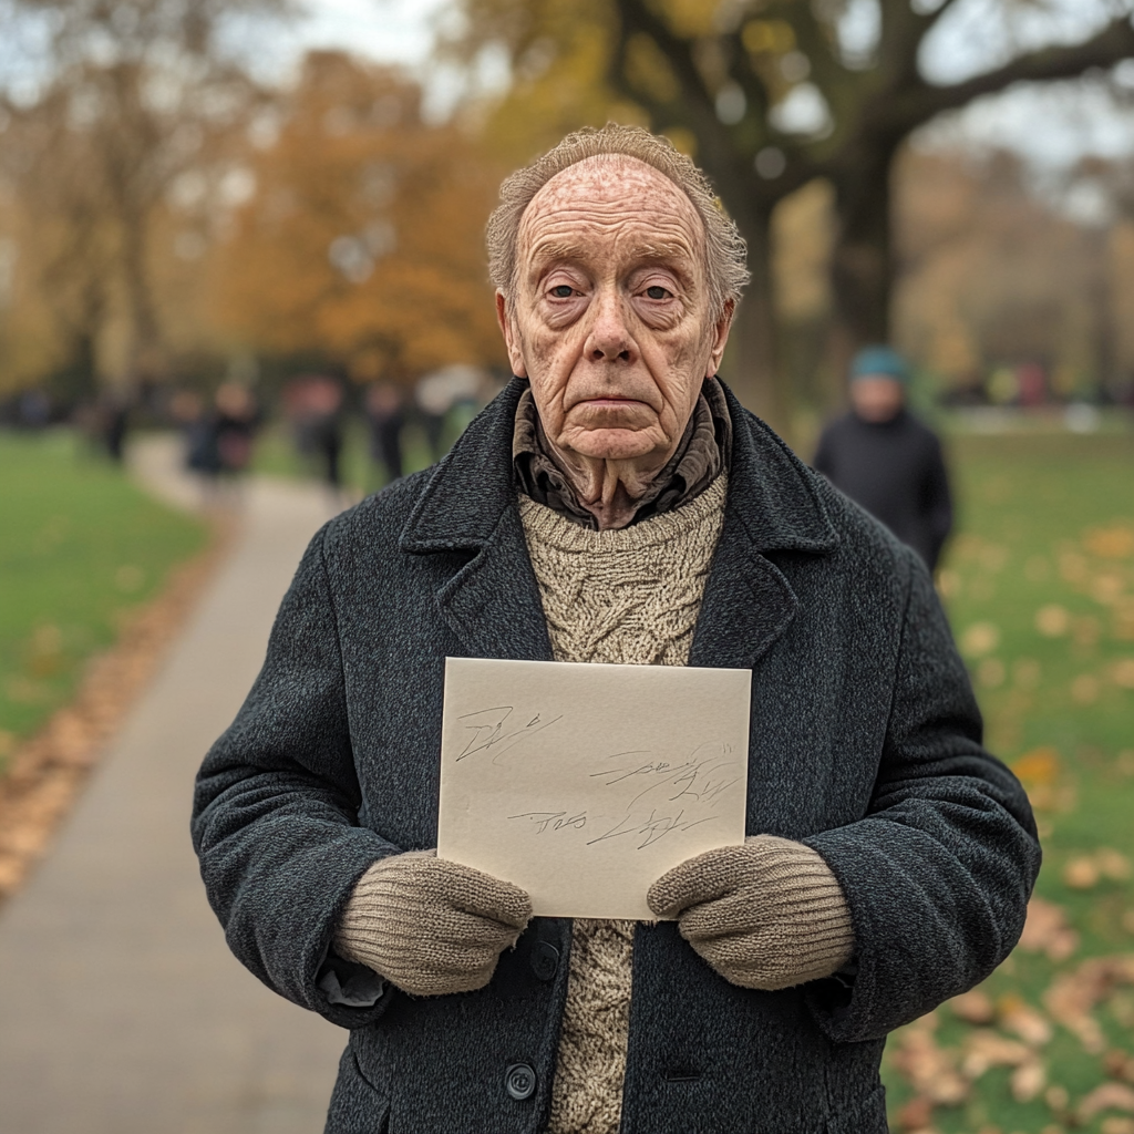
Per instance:
[[[896,350],[860,350],[850,411],[823,430],[813,465],[933,570],[953,528],[953,497],[941,442],[906,407],[908,384]]]

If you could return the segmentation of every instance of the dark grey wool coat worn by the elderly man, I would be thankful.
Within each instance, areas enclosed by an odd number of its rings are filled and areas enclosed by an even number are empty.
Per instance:
[[[328,950],[355,880],[437,845],[446,655],[551,659],[513,486],[522,389],[435,468],[315,536],[263,671],[201,770],[194,841],[232,950],[352,1029],[331,1134],[547,1123],[569,921],[535,919],[479,992],[387,988],[362,1008],[328,993],[329,971],[350,985]],[[887,1032],[1007,955],[1039,868],[1035,828],[981,747],[916,556],[731,395],[729,408],[725,525],[689,663],[752,670],[748,832],[827,860],[857,950],[848,975],[760,992],[718,976],[676,924],[641,924],[621,1131],[879,1134]],[[514,1097],[517,1064],[534,1072],[527,1098]]]

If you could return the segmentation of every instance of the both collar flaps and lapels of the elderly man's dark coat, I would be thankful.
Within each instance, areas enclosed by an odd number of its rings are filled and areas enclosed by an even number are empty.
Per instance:
[[[551,641],[513,484],[511,439],[524,383],[513,381],[438,465],[401,532],[416,555],[475,551],[437,592],[473,658],[550,661]],[[798,599],[769,551],[823,555],[838,543],[810,473],[726,389],[733,467],[720,542],[689,665],[748,669],[790,625]]]

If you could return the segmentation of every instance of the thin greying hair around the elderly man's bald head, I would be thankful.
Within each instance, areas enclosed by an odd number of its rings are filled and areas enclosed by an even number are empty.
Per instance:
[[[500,204],[488,225],[489,278],[509,302],[516,289],[519,222],[532,198],[565,169],[603,154],[635,158],[669,178],[689,198],[705,230],[705,276],[713,316],[731,299],[738,303],[748,282],[747,247],[736,222],[725,212],[709,178],[674,149],[669,138],[641,126],[607,122],[568,134],[553,150],[517,170],[500,186]]]

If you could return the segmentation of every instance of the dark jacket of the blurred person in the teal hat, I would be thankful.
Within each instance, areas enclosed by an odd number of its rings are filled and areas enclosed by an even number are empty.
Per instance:
[[[903,409],[887,422],[848,413],[823,430],[813,462],[837,489],[917,552],[929,566],[953,527],[941,442]]]

